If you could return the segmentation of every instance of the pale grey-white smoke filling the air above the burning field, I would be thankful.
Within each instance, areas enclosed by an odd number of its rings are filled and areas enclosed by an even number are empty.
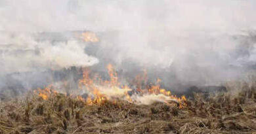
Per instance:
[[[40,77],[72,66],[101,71],[110,62],[124,76],[147,69],[169,88],[219,84],[253,71],[255,12],[255,1],[240,0],[2,0],[0,75]],[[73,31],[83,30],[95,32],[100,42],[73,38]],[[44,32],[51,41],[38,41],[35,35]],[[53,33],[62,33],[64,41]],[[48,77],[41,78],[35,81]],[[2,81],[0,86],[9,85]]]

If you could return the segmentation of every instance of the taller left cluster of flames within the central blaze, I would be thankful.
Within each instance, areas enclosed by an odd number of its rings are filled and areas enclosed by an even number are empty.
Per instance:
[[[128,86],[119,87],[117,73],[111,64],[107,65],[108,75],[110,80],[102,80],[100,77],[89,77],[89,70],[85,69],[83,72],[83,78],[79,80],[79,87],[81,89],[89,90],[92,96],[87,97],[87,104],[101,104],[104,101],[113,99],[114,97],[127,97],[129,99],[128,92],[131,89]]]

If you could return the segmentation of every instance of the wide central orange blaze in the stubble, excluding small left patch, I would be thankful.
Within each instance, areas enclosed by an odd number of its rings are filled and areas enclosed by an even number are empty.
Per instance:
[[[131,103],[136,103],[137,101],[142,100],[145,102],[146,99],[138,99],[138,98],[147,98],[150,97],[151,101],[163,101],[165,103],[168,103],[167,101],[175,101],[179,103],[180,107],[184,107],[183,102],[186,101],[186,97],[182,96],[176,97],[175,95],[171,95],[170,91],[167,91],[165,89],[162,89],[160,87],[161,79],[157,78],[156,85],[150,84],[150,86],[146,86],[142,88],[141,84],[146,85],[146,71],[144,71],[144,74],[142,76],[137,76],[135,79],[138,80],[136,82],[137,85],[137,92],[139,92],[139,95],[137,97],[134,97],[135,94],[129,94],[129,92],[133,91],[129,86],[120,86],[119,79],[117,76],[117,72],[115,71],[113,65],[108,64],[108,75],[110,76],[110,80],[101,80],[98,78],[91,79],[89,77],[89,71],[88,69],[85,69],[83,74],[83,79],[80,80],[79,84],[85,86],[87,90],[93,94],[93,97],[87,98],[87,103],[92,104],[100,104],[104,103],[104,101],[112,99],[112,101],[116,101],[115,98],[123,98],[126,101],[129,101]],[[96,80],[96,81],[95,81]],[[94,98],[94,99],[92,99]],[[147,104],[147,103],[145,103]]]

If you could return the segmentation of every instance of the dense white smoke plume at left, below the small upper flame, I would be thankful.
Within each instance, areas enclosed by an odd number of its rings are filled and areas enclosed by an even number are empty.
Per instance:
[[[7,35],[2,33],[0,41],[1,73],[44,71],[63,67],[87,67],[98,62],[84,53],[85,44],[77,41],[37,42],[31,35]]]

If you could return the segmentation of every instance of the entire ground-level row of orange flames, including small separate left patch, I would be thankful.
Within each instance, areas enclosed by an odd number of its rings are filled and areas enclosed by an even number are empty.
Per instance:
[[[161,88],[160,78],[157,78],[156,84],[148,85],[146,71],[144,71],[143,75],[136,76],[135,80],[137,81],[135,84],[137,85],[137,88],[131,89],[127,85],[120,84],[117,72],[113,65],[108,64],[106,68],[108,69],[109,80],[102,80],[98,75],[91,78],[89,69],[83,70],[83,78],[79,80],[79,89],[85,90],[88,97],[83,98],[82,96],[77,95],[77,100],[83,101],[87,105],[102,105],[108,100],[115,103],[119,99],[123,99],[130,103],[144,105],[159,101],[167,104],[175,102],[179,104],[180,108],[186,106],[186,103],[184,103],[186,102],[186,97],[177,97],[172,95],[170,91]],[[137,92],[134,93],[133,91]],[[51,95],[58,92],[52,90],[52,86],[47,86],[47,88],[43,90],[36,90],[36,93],[38,93],[39,97],[42,99],[47,100]],[[73,95],[70,97],[73,97]]]

